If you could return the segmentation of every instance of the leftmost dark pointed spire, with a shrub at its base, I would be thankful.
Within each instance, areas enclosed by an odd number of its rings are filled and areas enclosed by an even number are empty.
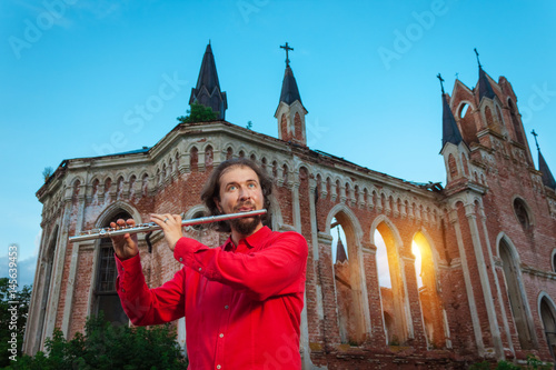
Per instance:
[[[189,104],[195,102],[212,108],[215,112],[219,112],[219,119],[225,119],[226,109],[228,109],[228,99],[226,92],[220,90],[220,82],[218,81],[210,40],[205,50],[205,56],[202,57],[197,87],[191,89]]]

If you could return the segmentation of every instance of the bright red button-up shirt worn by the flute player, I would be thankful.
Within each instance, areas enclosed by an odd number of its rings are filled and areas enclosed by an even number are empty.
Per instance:
[[[133,324],[186,317],[191,370],[301,369],[307,253],[301,234],[267,227],[237,248],[181,238],[173,257],[183,268],[170,281],[149,289],[137,254],[116,258],[116,287]]]

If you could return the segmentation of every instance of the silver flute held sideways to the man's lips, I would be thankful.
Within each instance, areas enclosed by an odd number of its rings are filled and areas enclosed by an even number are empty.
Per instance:
[[[192,226],[192,224],[201,224],[201,223],[211,223],[218,221],[226,221],[232,219],[239,219],[244,217],[254,217],[261,216],[267,213],[266,209],[260,209],[256,211],[248,212],[238,212],[238,213],[229,213],[229,214],[220,214],[220,216],[207,216],[200,217],[198,219],[190,219],[181,221],[181,227]],[[126,233],[137,233],[137,232],[148,232],[155,230],[161,230],[162,228],[156,224],[155,222],[148,223],[139,223],[135,227],[116,227],[116,228],[103,228],[103,229],[92,229],[89,231],[83,231],[78,236],[69,237],[70,242],[79,242],[92,239],[101,239],[101,238],[110,238],[116,236],[123,236]]]

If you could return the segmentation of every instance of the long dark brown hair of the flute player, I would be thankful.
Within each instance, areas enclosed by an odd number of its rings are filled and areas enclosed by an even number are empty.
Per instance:
[[[234,158],[221,162],[210,174],[209,180],[201,191],[201,201],[208,210],[208,216],[222,214],[216,206],[215,199],[220,200],[220,178],[225,171],[232,167],[248,167],[257,173],[259,178],[260,189],[262,191],[262,207],[267,210],[266,214],[261,216],[262,224],[271,227],[271,196],[272,196],[272,178],[254,161],[247,158]],[[231,228],[228,221],[219,221],[212,223],[212,228],[221,232],[230,232]]]

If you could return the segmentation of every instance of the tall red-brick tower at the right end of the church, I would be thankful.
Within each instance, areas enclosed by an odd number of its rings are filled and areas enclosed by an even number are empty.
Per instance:
[[[443,91],[440,153],[476,346],[479,353],[503,359],[508,348],[530,351],[543,340],[519,266],[550,256],[553,247],[543,238],[552,232],[554,211],[547,213],[543,204],[552,197],[543,187],[550,187],[549,171],[534,168],[512,84],[504,77],[492,79],[475,53],[476,87],[456,80],[451,97]]]

